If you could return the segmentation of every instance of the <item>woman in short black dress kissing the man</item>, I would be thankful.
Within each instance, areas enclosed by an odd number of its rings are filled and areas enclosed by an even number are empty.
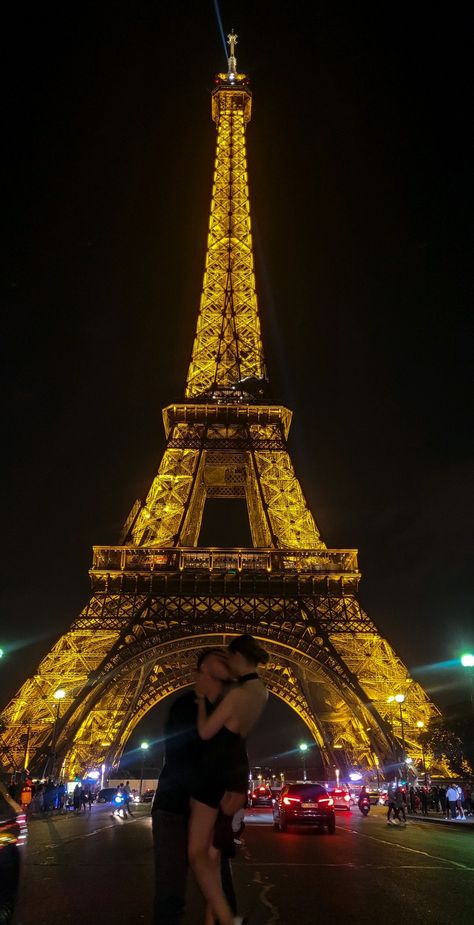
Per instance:
[[[205,742],[199,773],[192,790],[189,823],[189,860],[207,903],[207,922],[234,925],[219,878],[218,854],[213,830],[219,807],[229,816],[245,805],[248,775],[245,774],[245,740],[260,718],[268,691],[256,668],[266,664],[268,653],[248,633],[229,645],[229,666],[238,685],[206,713],[206,678],[198,678],[198,733]]]

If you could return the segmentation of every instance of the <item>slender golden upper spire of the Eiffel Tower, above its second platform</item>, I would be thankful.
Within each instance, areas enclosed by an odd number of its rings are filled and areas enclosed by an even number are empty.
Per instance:
[[[237,36],[228,35],[228,73],[217,74],[212,117],[216,160],[201,304],[186,398],[234,401],[246,383],[263,400],[267,390],[253,267],[245,129],[252,95],[237,71]]]

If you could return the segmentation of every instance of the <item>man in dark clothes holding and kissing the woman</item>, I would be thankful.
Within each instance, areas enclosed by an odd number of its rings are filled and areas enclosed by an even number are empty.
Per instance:
[[[208,677],[211,695],[208,695],[206,706],[211,712],[232,680],[225,652],[218,648],[205,650],[198,658],[197,671]],[[155,854],[153,925],[181,925],[183,921],[189,806],[201,749],[195,697],[194,690],[178,697],[165,724],[165,765],[151,808]],[[227,822],[224,820],[225,829]],[[230,819],[228,822],[231,826]],[[222,858],[221,873],[227,901],[236,914],[232,874],[226,857]]]

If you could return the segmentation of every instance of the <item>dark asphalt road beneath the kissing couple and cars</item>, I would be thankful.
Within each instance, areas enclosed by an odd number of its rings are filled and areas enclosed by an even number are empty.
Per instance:
[[[149,807],[131,820],[94,806],[85,816],[33,820],[23,864],[19,925],[148,923],[152,904]],[[252,810],[233,862],[249,925],[464,925],[474,921],[474,826],[409,821],[384,811],[337,816],[336,834],[275,832]],[[189,885],[185,925],[202,925]]]

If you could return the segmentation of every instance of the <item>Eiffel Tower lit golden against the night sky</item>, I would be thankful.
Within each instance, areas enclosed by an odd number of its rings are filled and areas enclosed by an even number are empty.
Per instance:
[[[5,770],[72,777],[116,764],[147,711],[192,683],[197,651],[244,632],[269,651],[264,680],[305,722],[329,776],[417,760],[417,724],[438,714],[362,610],[356,550],[323,542],[288,452],[291,411],[269,397],[247,182],[252,96],[228,39],[185,398],[163,411],[163,458],[118,545],[94,547],[90,600],[1,714]],[[246,502],[250,548],[198,545],[206,501],[225,498]]]

